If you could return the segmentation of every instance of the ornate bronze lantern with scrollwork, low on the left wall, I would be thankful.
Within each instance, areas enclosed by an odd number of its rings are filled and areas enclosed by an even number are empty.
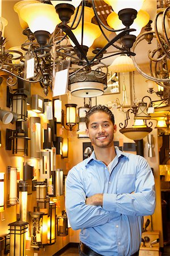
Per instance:
[[[31,216],[31,247],[39,249],[42,245],[43,212],[30,212]],[[20,255],[20,254],[16,254]]]

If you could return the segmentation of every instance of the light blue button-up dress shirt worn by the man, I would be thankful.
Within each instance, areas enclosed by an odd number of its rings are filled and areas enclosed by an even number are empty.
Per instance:
[[[155,210],[154,176],[147,160],[122,152],[107,166],[92,155],[67,176],[65,206],[80,241],[105,256],[130,256],[138,251],[142,216]],[[86,197],[103,193],[103,205],[86,205]]]

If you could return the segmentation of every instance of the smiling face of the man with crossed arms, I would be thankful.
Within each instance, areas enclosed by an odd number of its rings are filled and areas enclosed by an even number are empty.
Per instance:
[[[89,117],[88,134],[93,147],[106,148],[113,146],[113,134],[117,126],[110,121],[105,112],[96,112]]]

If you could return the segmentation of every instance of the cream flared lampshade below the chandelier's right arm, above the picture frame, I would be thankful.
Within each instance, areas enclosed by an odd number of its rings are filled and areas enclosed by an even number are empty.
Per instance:
[[[109,69],[113,72],[132,72],[136,70],[131,57],[126,55],[121,55],[114,59]]]

